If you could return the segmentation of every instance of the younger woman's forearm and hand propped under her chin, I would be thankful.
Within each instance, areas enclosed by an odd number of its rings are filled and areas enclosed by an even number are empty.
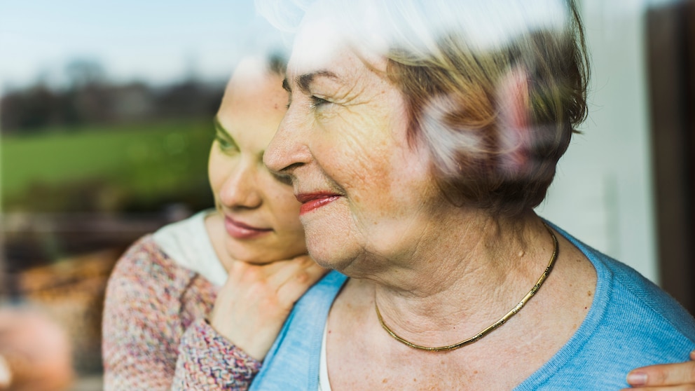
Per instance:
[[[198,320],[181,340],[173,389],[246,390],[294,303],[326,272],[308,256],[234,263],[210,321]]]

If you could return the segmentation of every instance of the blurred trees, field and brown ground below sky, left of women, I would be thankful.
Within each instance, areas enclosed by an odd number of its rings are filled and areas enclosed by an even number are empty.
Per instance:
[[[99,373],[118,256],[213,206],[207,153],[224,81],[122,83],[90,60],[63,74],[0,97],[0,302],[46,310],[74,341],[76,371]]]

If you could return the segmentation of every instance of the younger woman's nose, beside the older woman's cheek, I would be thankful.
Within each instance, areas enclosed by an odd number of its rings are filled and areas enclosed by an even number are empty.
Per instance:
[[[226,177],[220,194],[220,202],[231,209],[255,209],[263,203],[259,167],[252,162],[240,162]]]

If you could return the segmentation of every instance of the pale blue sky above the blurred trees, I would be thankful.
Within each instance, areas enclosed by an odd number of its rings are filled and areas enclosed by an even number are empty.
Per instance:
[[[118,81],[220,79],[240,53],[280,47],[253,0],[0,0],[0,88],[60,84],[74,59]]]

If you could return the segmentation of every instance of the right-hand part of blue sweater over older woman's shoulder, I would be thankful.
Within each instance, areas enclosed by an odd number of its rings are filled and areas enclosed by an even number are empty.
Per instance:
[[[596,268],[593,303],[570,341],[517,390],[617,390],[639,366],[686,361],[695,348],[687,310],[633,268],[563,235]]]

